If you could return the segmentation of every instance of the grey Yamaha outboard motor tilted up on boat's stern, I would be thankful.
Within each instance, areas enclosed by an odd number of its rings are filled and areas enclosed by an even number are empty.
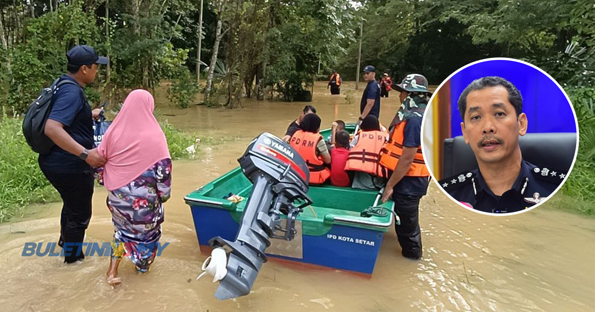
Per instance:
[[[267,262],[265,249],[271,245],[270,238],[292,240],[297,215],[312,203],[306,195],[308,165],[280,138],[262,133],[250,142],[238,162],[253,184],[240,228],[234,241],[212,238],[209,244],[214,249],[202,266],[202,275],[210,273],[213,282],[220,281],[215,292],[220,300],[249,294],[262,264]],[[281,213],[287,216],[285,226]],[[228,259],[224,248],[231,250]]]

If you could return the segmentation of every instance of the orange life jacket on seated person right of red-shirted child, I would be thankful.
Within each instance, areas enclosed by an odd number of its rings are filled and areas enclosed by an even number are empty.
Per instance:
[[[363,171],[387,178],[380,166],[380,150],[385,142],[386,132],[374,130],[359,133],[358,143],[349,151],[345,170]]]

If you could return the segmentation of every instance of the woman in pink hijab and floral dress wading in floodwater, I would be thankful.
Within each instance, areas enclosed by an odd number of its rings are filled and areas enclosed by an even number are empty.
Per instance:
[[[161,238],[162,204],[171,190],[171,157],[154,109],[151,93],[130,92],[98,147],[107,163],[97,178],[108,190],[115,229],[107,272],[112,286],[121,283],[118,265],[123,256],[130,256],[137,272],[148,272]]]

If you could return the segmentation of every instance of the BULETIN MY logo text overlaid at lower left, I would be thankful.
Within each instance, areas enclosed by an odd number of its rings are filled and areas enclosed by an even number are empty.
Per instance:
[[[64,256],[79,256],[83,253],[84,256],[109,257],[112,256],[132,256],[133,253],[146,254],[156,251],[156,256],[161,256],[161,252],[169,245],[169,242],[161,244],[161,242],[152,242],[149,244],[137,242],[65,242],[60,252],[55,252],[57,244],[55,242],[26,242],[23,247],[21,256],[30,257],[64,257]],[[45,246],[44,246],[45,245]],[[60,247],[58,247],[60,248]],[[112,253],[113,252],[113,253]]]

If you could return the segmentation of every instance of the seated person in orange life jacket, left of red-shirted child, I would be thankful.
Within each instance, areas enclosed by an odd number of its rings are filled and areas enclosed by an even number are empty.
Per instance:
[[[331,175],[330,168],[327,166],[331,163],[331,155],[318,130],[320,130],[320,117],[316,114],[305,115],[300,122],[300,130],[296,131],[289,140],[289,144],[308,164],[309,184],[322,184]]]

